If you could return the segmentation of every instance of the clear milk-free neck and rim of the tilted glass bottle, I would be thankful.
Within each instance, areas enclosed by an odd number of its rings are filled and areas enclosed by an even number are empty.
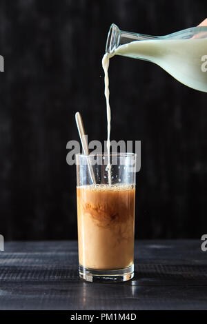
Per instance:
[[[119,30],[115,23],[112,23],[106,41],[106,53],[113,54],[120,45],[127,44],[132,41],[146,41],[157,38],[159,37],[137,34],[135,32],[124,32]]]

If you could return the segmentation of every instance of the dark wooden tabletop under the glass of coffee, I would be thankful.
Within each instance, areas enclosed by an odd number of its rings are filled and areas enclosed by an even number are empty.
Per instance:
[[[206,310],[201,241],[137,241],[135,279],[87,283],[77,241],[10,242],[0,252],[0,310]]]

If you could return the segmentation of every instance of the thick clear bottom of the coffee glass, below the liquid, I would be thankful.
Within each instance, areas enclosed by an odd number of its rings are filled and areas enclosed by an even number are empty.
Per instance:
[[[134,264],[130,267],[117,270],[94,270],[79,265],[79,276],[81,279],[93,282],[123,282],[134,276]]]

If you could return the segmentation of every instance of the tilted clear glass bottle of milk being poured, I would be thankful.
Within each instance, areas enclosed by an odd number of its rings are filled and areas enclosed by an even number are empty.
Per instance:
[[[122,55],[151,61],[177,81],[207,92],[207,27],[193,27],[155,37],[124,32],[113,23],[108,32],[109,57]]]

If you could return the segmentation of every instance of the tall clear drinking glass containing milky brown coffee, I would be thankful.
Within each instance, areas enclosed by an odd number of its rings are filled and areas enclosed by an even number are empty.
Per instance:
[[[134,276],[135,165],[133,153],[77,154],[79,275],[86,281]]]

